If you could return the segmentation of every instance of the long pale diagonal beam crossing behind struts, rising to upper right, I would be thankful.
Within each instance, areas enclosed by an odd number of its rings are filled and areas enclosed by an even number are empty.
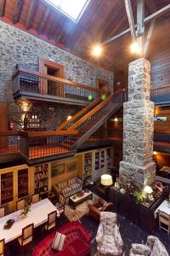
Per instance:
[[[159,9],[158,11],[156,11],[155,13],[153,13],[152,15],[149,15],[148,17],[144,18],[144,23],[148,23],[150,20],[156,19],[157,17],[165,14],[167,11],[170,10],[170,3],[167,4],[165,7]],[[135,25],[136,27],[137,25]],[[119,34],[117,34],[116,36],[109,38],[108,40],[106,40],[105,42],[103,42],[102,44],[110,44],[111,42],[113,42],[114,40],[116,40],[117,38],[121,38],[123,35],[126,35],[128,32],[130,32],[130,28],[127,28],[126,30],[124,30],[123,32],[120,32]]]

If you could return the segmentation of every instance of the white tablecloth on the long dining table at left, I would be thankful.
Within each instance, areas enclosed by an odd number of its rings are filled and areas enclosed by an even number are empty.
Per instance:
[[[56,207],[48,200],[48,198],[38,201],[31,205],[31,211],[28,212],[26,218],[20,218],[20,212],[13,212],[0,218],[0,240],[5,239],[5,242],[13,241],[15,238],[22,235],[22,229],[28,224],[34,224],[34,227],[44,224],[48,220],[48,213],[57,210]],[[59,212],[57,211],[59,217]],[[9,230],[4,230],[3,226],[8,219],[13,218],[14,224]]]

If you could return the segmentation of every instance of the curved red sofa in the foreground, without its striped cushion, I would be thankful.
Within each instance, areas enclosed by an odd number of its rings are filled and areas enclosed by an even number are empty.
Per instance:
[[[61,252],[52,249],[52,243],[56,231],[64,234],[65,244]],[[32,256],[88,256],[90,255],[90,243],[92,236],[78,221],[70,222],[46,236],[34,248]]]

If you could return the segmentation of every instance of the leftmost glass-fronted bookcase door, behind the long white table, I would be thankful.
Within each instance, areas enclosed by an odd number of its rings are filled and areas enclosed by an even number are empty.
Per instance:
[[[1,204],[14,200],[14,173],[1,174]]]

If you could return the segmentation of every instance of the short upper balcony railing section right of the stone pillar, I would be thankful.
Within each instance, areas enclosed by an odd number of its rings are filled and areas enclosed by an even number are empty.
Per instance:
[[[152,86],[150,89],[150,100],[155,105],[167,106],[170,104],[170,84]]]

